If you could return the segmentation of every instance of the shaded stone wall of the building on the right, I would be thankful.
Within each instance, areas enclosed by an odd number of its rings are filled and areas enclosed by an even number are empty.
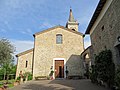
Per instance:
[[[114,62],[118,63],[114,46],[118,36],[120,36],[120,0],[113,0],[90,36],[94,54],[98,54],[105,48],[110,49]]]

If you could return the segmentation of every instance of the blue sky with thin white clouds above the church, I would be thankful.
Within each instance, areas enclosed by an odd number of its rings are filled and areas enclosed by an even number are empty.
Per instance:
[[[0,0],[0,38],[16,47],[15,54],[33,48],[36,32],[56,25],[65,26],[70,7],[85,33],[99,0]],[[90,38],[84,39],[85,48]]]

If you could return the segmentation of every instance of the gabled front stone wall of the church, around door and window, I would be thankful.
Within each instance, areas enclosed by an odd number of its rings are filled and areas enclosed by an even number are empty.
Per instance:
[[[56,44],[56,35],[62,34],[63,43]],[[63,28],[35,36],[33,77],[48,76],[54,58],[64,58],[69,75],[81,74],[80,54],[83,51],[83,36]]]

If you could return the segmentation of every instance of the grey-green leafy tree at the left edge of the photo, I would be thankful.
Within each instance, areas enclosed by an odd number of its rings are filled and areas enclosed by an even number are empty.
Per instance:
[[[4,70],[4,79],[11,71],[11,66],[14,62],[12,54],[14,53],[15,48],[7,39],[0,39],[0,67]]]

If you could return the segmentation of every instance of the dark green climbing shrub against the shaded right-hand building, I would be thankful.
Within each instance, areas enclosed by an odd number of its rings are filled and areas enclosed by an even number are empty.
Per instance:
[[[114,83],[115,65],[112,61],[112,52],[104,50],[95,57],[94,66],[95,80],[99,79],[106,82],[109,86]]]

